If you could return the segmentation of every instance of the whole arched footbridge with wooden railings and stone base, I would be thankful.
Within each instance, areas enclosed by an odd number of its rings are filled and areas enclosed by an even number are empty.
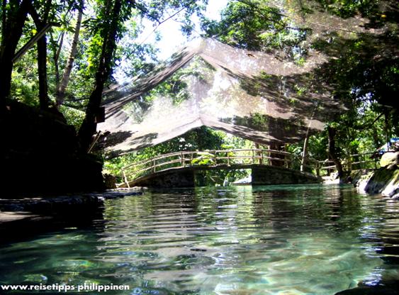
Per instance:
[[[320,161],[266,149],[182,151],[123,167],[120,187],[191,187],[193,174],[206,169],[252,169],[252,184],[320,182]]]

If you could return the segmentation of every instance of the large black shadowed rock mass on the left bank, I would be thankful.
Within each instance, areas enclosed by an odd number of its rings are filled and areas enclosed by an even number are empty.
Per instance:
[[[102,191],[102,159],[79,147],[62,116],[8,101],[0,116],[2,199]]]

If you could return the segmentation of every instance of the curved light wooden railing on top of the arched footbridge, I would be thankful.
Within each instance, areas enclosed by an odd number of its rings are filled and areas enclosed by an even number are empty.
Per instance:
[[[266,149],[182,151],[133,162],[123,167],[121,173],[124,182],[128,184],[128,182],[139,177],[167,169],[193,166],[231,167],[242,165],[270,165],[297,169],[300,166],[300,159],[289,152]],[[317,160],[308,159],[303,167],[308,172],[318,174],[319,163]]]

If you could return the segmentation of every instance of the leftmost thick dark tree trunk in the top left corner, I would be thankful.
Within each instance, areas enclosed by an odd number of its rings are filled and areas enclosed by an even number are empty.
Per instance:
[[[13,57],[18,41],[22,35],[23,25],[28,15],[31,0],[10,1],[9,11],[3,11],[3,34],[0,45],[0,108],[4,108],[5,100],[10,95]],[[4,4],[4,2],[3,2]]]

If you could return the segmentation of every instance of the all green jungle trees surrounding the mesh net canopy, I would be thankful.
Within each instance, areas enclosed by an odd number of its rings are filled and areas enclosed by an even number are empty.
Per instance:
[[[273,52],[297,65],[315,51],[327,57],[320,75],[334,98],[347,105],[347,112],[330,121],[325,131],[308,138],[310,157],[330,157],[339,169],[340,159],[347,155],[376,150],[399,135],[397,1],[231,0],[220,21],[203,15],[207,2],[2,1],[0,111],[8,101],[19,101],[57,113],[76,128],[80,147],[86,152],[96,133],[103,89],[116,82],[116,69],[140,75],[158,62],[156,48],[137,38],[144,23],[150,21],[157,28],[178,18],[182,32],[190,35],[196,15],[204,36],[237,48]],[[319,15],[330,16],[330,22],[323,22]],[[354,26],[359,29],[347,26],[352,20],[359,20]],[[31,46],[24,47],[32,38]],[[107,167],[115,169],[176,148],[248,144],[200,128],[108,162]],[[303,143],[286,148],[300,155]]]

